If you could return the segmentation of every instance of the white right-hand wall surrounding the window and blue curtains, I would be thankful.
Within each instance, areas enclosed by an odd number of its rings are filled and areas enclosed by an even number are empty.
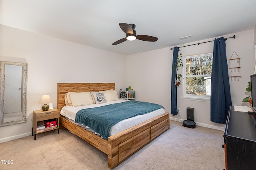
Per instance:
[[[240,81],[230,80],[230,91],[232,104],[245,106],[248,103],[242,103],[242,99],[247,96],[245,88],[250,81],[250,75],[254,73],[254,30],[243,31],[230,35],[219,37],[232,37],[235,39],[226,40],[226,54],[229,65],[229,59],[234,51],[240,57],[241,76]],[[216,37],[218,38],[218,37]],[[185,45],[211,41],[205,39]],[[180,42],[182,43],[182,41]],[[214,42],[193,45],[180,48],[182,56],[209,53],[213,51]],[[177,45],[179,47],[179,45]],[[140,101],[154,102],[161,104],[165,110],[170,113],[170,89],[172,73],[172,55],[168,47],[146,53],[127,56],[127,84],[136,90],[136,99]],[[183,83],[183,82],[182,82]],[[172,116],[170,119],[180,121],[186,120],[186,108],[193,107],[195,111],[195,122],[197,125],[210,127],[214,129],[224,129],[225,124],[214,123],[210,121],[210,102],[198,102],[191,100],[182,100],[182,86],[177,88],[177,101],[180,110],[179,115]]]

